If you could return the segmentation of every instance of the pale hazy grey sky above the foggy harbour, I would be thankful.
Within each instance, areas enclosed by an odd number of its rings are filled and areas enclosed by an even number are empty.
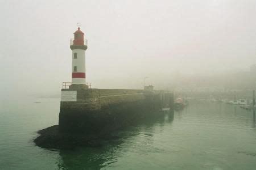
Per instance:
[[[256,63],[256,1],[0,0],[1,94],[56,94],[71,81],[69,40],[88,39],[94,88],[156,86],[171,73],[221,73]]]

